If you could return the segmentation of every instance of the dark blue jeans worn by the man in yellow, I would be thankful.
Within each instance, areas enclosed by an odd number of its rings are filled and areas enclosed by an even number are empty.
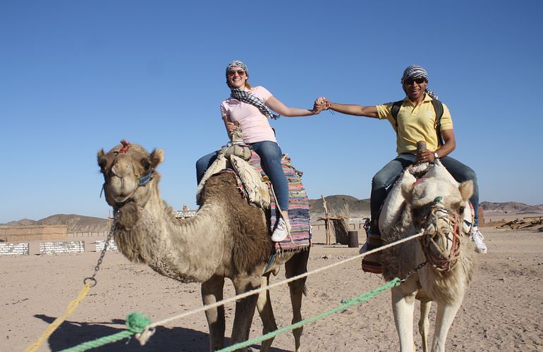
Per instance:
[[[393,161],[384,165],[384,168],[379,170],[372,179],[372,194],[370,196],[370,210],[372,213],[372,221],[370,225],[370,231],[372,234],[379,234],[379,212],[381,206],[386,198],[387,189],[393,184],[401,175],[403,169],[412,165],[417,160],[417,156],[414,154],[400,154]],[[473,209],[475,210],[475,218],[473,219],[473,225],[479,225],[479,184],[477,184],[477,175],[475,171],[468,166],[460,163],[450,156],[444,156],[439,158],[441,164],[451,173],[454,179],[458,182],[464,182],[468,180],[473,181],[473,194],[470,198]]]

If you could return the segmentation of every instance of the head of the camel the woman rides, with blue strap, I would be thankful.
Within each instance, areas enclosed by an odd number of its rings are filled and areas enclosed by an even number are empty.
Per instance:
[[[162,149],[148,153],[142,146],[124,140],[108,153],[100,150],[98,165],[104,175],[107,203],[114,209],[121,208],[129,201],[145,206],[151,194],[150,182],[159,179],[154,168],[163,160]]]

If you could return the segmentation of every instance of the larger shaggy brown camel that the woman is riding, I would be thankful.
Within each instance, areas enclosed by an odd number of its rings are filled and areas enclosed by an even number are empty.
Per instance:
[[[202,206],[194,218],[179,220],[160,197],[159,172],[164,151],[148,153],[137,144],[115,146],[98,152],[104,174],[106,201],[117,213],[113,233],[117,247],[129,260],[145,263],[154,271],[180,282],[201,282],[202,301],[223,299],[224,278],[233,282],[236,294],[269,284],[271,272],[285,265],[286,277],[307,272],[309,251],[276,256],[264,272],[273,252],[269,214],[250,206],[230,173],[210,177],[202,191]],[[302,320],[300,308],[305,278],[290,282],[293,322]],[[257,306],[265,334],[277,328],[269,291],[236,301],[231,342],[249,338]],[[224,348],[224,306],[206,310],[212,351]],[[300,351],[303,328],[293,330],[295,350]],[[267,351],[272,339],[262,342]]]

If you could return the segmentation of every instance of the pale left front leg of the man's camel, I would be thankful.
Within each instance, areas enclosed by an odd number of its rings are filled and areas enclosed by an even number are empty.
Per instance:
[[[404,284],[408,284],[405,282]],[[396,331],[400,338],[400,350],[403,352],[414,351],[413,344],[413,310],[415,308],[415,292],[404,294],[402,287],[392,289],[392,311]]]

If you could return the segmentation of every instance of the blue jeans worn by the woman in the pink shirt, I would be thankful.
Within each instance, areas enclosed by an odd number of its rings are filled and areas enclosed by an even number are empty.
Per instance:
[[[279,144],[271,141],[262,141],[249,144],[255,153],[260,156],[260,165],[262,170],[266,172],[271,185],[274,187],[277,203],[281,207],[281,210],[288,210],[288,183],[286,181],[285,173],[283,172],[283,166],[281,165],[281,157],[283,152],[279,148]],[[202,177],[204,177],[205,170],[215,161],[218,152],[207,154],[202,156],[196,162],[196,181],[200,184]]]

